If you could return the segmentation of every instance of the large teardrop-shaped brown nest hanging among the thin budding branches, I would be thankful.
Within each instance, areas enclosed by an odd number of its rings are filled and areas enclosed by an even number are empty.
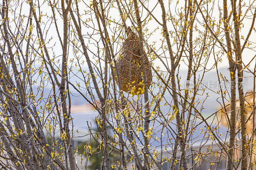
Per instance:
[[[142,94],[144,92],[144,82],[142,79],[143,65],[142,55],[140,55],[139,37],[130,27],[125,31],[127,38],[123,42],[116,60],[121,81],[121,89],[130,94]],[[147,74],[148,87],[152,82],[152,72],[147,57],[144,57],[144,66]],[[116,75],[115,75],[116,76]],[[115,77],[117,81],[117,78]]]

